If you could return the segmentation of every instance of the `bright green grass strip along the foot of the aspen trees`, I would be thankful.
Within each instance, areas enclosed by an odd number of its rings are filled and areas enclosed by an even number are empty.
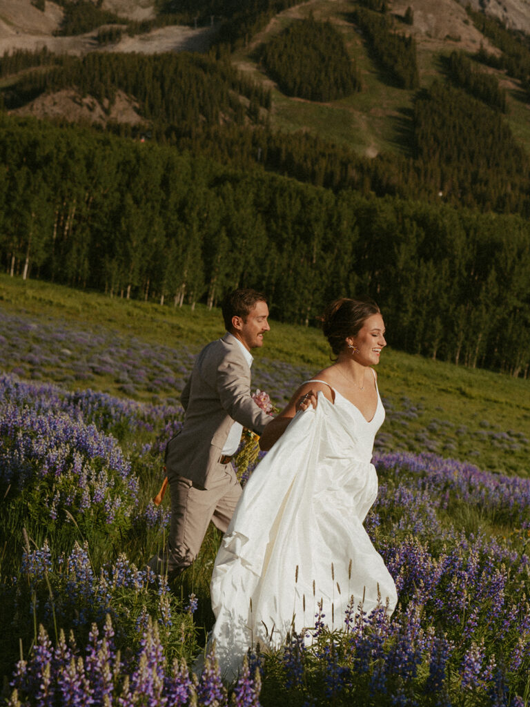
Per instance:
[[[223,334],[220,311],[208,310],[203,305],[193,311],[186,305],[162,307],[40,281],[23,282],[4,274],[0,276],[0,306],[8,312],[43,320],[54,317],[93,331],[104,328],[146,344],[175,348],[186,344],[196,351]],[[382,355],[378,375],[379,390],[390,403],[381,434],[391,436],[391,449],[428,451],[426,435],[437,445],[435,451],[444,456],[469,460],[497,472],[528,474],[528,380],[395,351],[391,349],[391,327],[387,340],[389,346]],[[280,322],[271,322],[264,348],[254,353],[257,371],[260,366],[264,370],[282,362],[316,373],[330,362],[329,349],[319,329]],[[300,382],[293,380],[292,390]],[[72,385],[90,385],[95,390],[119,395],[112,376],[101,375],[87,384],[79,380]],[[168,391],[168,395],[172,393]],[[148,397],[147,392],[139,395],[140,399]],[[506,433],[508,438],[503,439]]]

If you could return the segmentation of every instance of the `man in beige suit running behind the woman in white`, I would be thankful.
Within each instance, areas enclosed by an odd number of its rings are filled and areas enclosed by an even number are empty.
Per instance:
[[[261,434],[271,421],[250,395],[250,350],[263,346],[267,317],[259,292],[231,292],[223,302],[227,333],[196,358],[181,396],[184,426],[167,444],[171,525],[164,551],[148,562],[157,573],[182,572],[199,554],[210,520],[225,532],[232,518],[241,486],[230,460],[242,428]]]

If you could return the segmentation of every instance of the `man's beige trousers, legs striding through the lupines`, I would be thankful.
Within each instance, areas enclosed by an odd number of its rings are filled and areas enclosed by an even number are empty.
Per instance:
[[[192,564],[213,522],[222,532],[228,528],[241,484],[232,464],[219,464],[220,474],[208,489],[199,489],[184,477],[170,479],[171,525],[166,547],[153,555],[148,566],[158,574],[182,572]]]

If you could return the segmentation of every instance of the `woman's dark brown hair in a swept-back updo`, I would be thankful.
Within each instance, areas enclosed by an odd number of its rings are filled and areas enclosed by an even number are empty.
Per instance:
[[[335,356],[343,349],[346,339],[355,337],[365,320],[375,314],[381,314],[381,310],[369,297],[357,300],[341,297],[327,305],[319,321]]]

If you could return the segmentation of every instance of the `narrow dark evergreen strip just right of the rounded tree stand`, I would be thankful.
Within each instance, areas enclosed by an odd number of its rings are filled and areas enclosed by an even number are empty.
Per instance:
[[[392,76],[400,88],[418,88],[420,78],[416,60],[416,42],[391,30],[387,13],[377,13],[359,7],[353,14],[380,66]]]

